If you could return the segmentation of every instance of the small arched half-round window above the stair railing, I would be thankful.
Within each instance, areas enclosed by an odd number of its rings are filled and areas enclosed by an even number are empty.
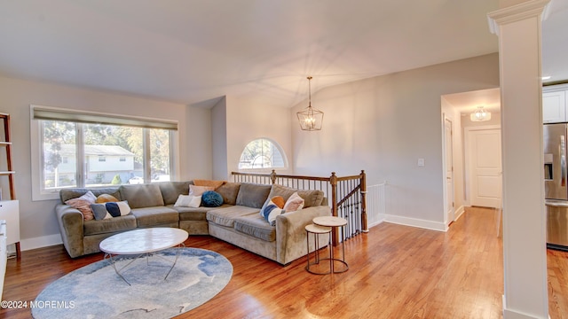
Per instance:
[[[280,145],[267,138],[257,138],[245,146],[239,160],[239,169],[286,167]]]

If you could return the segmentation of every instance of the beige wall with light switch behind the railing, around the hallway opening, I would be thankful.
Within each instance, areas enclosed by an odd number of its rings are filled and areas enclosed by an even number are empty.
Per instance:
[[[440,97],[498,86],[495,53],[320,89],[312,105],[325,113],[323,129],[292,127],[295,174],[365,169],[367,185],[389,183],[387,221],[443,230]]]

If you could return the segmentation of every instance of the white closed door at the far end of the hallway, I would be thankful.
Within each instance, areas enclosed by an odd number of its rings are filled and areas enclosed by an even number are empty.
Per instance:
[[[469,132],[471,206],[501,206],[501,129]]]

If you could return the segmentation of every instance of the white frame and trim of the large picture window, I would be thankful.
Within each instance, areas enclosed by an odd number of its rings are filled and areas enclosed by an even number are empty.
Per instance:
[[[42,139],[42,129],[41,121],[34,120],[34,109],[39,108],[43,110],[54,110],[54,112],[61,113],[76,113],[76,114],[87,114],[87,116],[97,117],[111,117],[114,119],[124,119],[129,123],[134,123],[137,121],[156,121],[162,123],[171,123],[177,128],[177,121],[163,120],[163,119],[153,119],[153,118],[142,118],[137,116],[123,115],[123,114],[109,114],[109,113],[97,113],[97,112],[87,112],[87,111],[76,111],[69,110],[58,107],[42,106],[42,105],[29,105],[30,106],[30,151],[31,151],[31,183],[32,183],[32,201],[39,200],[52,200],[59,199],[59,190],[44,191],[42,187],[43,183],[43,139]],[[57,120],[56,120],[57,121]],[[113,124],[108,124],[113,125]],[[134,126],[134,125],[132,125]],[[147,130],[146,130],[147,132]],[[80,135],[82,136],[82,135]],[[77,141],[77,162],[83,163],[83,143],[82,141]],[[148,146],[149,147],[149,146]],[[149,152],[148,152],[149,153]],[[149,156],[149,155],[148,155]],[[146,165],[144,167],[146,171]],[[148,168],[149,169],[149,168]],[[179,172],[179,137],[177,130],[172,130],[170,134],[170,177],[171,181],[176,181]],[[149,175],[149,174],[148,174]],[[150,177],[148,177],[148,182]],[[77,185],[77,187],[81,187]]]

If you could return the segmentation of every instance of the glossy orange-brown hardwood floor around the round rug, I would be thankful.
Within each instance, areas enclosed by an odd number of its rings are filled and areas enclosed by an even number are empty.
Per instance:
[[[305,258],[282,267],[213,237],[185,245],[233,263],[215,298],[178,318],[501,318],[502,245],[493,210],[469,208],[447,233],[383,223],[345,243],[350,269],[318,276]],[[61,245],[9,260],[4,300],[34,300],[53,280],[102,259],[70,259]],[[568,253],[548,251],[550,317],[568,318]],[[29,309],[0,317],[29,318]]]

